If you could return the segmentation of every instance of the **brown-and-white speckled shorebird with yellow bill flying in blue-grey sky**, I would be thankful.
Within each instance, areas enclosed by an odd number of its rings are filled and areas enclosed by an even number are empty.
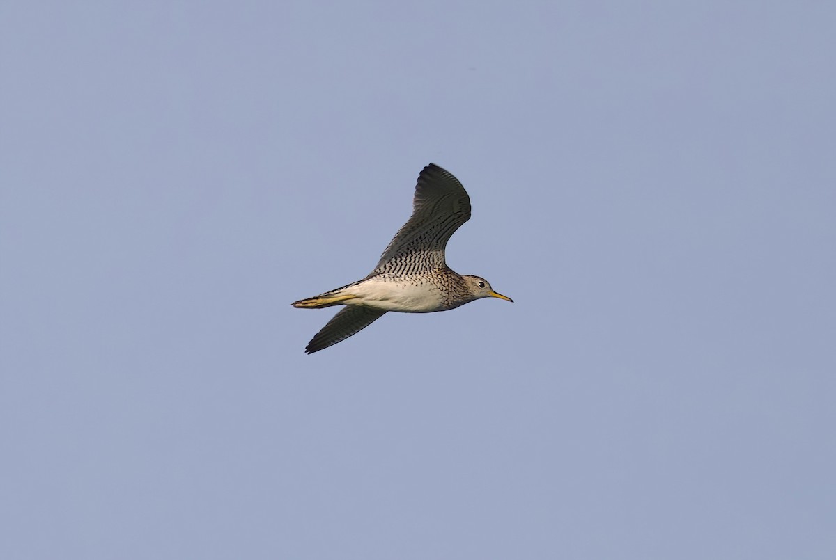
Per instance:
[[[470,197],[456,177],[436,164],[418,175],[412,215],[363,280],[304,300],[293,307],[344,305],[305,347],[313,354],[356,335],[388,311],[431,313],[498,294],[480,276],[459,275],[446,264],[451,235],[471,217]]]

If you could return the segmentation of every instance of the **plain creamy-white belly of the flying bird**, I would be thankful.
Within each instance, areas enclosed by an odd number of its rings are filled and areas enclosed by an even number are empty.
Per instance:
[[[350,292],[357,298],[347,300],[347,305],[365,305],[386,311],[429,313],[442,310],[444,303],[444,294],[436,285],[419,282],[371,279],[351,286]]]

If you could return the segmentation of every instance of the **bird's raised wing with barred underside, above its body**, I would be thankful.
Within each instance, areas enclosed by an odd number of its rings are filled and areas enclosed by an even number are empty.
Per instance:
[[[415,186],[412,216],[390,241],[372,275],[443,269],[447,240],[470,213],[470,197],[459,180],[436,164],[427,165]]]

